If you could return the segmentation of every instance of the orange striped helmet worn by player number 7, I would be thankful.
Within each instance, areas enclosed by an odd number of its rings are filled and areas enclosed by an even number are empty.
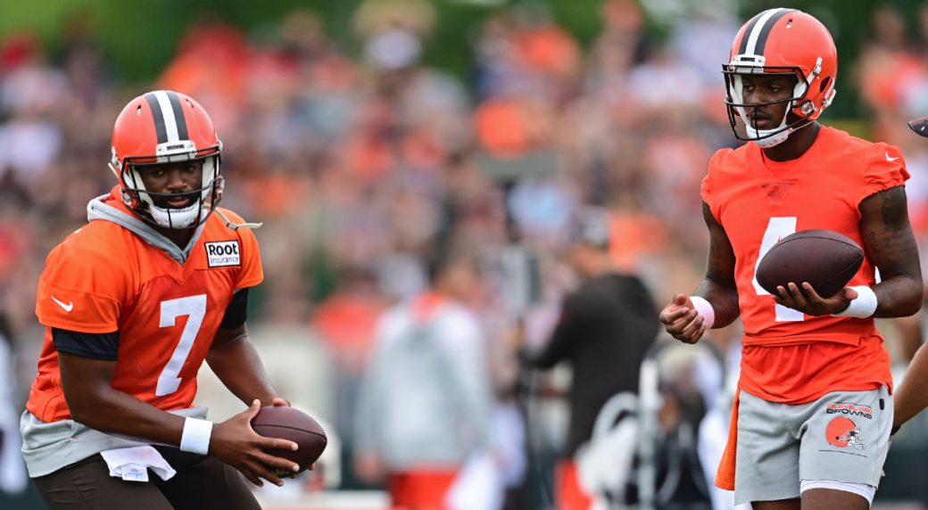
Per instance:
[[[119,179],[125,205],[148,223],[192,228],[205,222],[222,199],[222,147],[200,103],[170,90],[148,92],[129,101],[116,118],[110,170]],[[176,209],[157,205],[154,198],[169,194],[146,190],[138,167],[190,160],[203,163],[202,185],[190,192],[193,204]]]

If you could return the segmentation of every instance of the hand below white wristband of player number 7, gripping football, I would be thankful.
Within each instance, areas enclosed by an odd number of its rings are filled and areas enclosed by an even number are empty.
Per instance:
[[[279,401],[279,402],[278,402]],[[274,405],[286,405],[281,399],[275,399]],[[222,423],[213,426],[210,439],[210,454],[241,471],[251,483],[261,487],[260,478],[275,485],[283,485],[282,473],[296,472],[299,468],[293,461],[275,457],[264,450],[296,450],[297,445],[290,440],[265,438],[251,428],[251,418],[261,409],[261,401],[251,402],[251,406]]]

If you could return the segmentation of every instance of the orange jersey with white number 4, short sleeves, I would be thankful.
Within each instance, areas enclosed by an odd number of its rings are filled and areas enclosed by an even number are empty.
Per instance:
[[[813,317],[782,307],[754,272],[770,247],[800,230],[833,230],[864,247],[860,202],[908,178],[896,147],[830,127],[821,128],[799,159],[772,161],[756,144],[715,153],[702,199],[735,253],[742,389],[772,402],[800,403],[836,389],[891,385],[889,356],[872,318]],[[868,256],[847,285],[874,283]]]

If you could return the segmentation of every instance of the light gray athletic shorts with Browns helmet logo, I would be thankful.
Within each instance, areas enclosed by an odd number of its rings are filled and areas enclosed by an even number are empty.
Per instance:
[[[800,480],[878,487],[892,426],[893,397],[884,387],[798,405],[741,391],[735,504],[798,498]]]

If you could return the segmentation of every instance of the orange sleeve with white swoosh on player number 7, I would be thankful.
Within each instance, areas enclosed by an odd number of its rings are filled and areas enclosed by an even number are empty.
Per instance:
[[[119,329],[126,272],[97,252],[65,243],[45,260],[35,314],[49,327],[82,333]]]

